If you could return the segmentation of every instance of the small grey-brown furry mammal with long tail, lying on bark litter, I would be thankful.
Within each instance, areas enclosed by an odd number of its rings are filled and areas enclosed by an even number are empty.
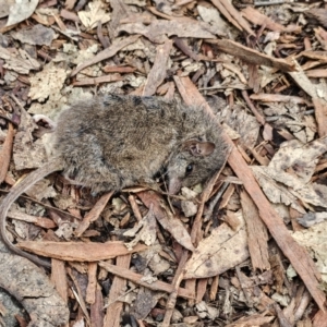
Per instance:
[[[11,204],[29,186],[63,170],[94,192],[152,183],[167,169],[169,193],[204,181],[225,162],[227,145],[202,108],[157,97],[106,95],[63,111],[52,137],[52,157],[11,189],[0,205],[4,244],[34,263],[49,266],[15,247],[5,233]]]

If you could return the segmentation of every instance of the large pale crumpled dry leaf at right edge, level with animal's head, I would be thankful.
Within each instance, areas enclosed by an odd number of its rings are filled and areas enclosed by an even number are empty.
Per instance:
[[[281,145],[268,167],[252,167],[252,170],[272,203],[291,205],[299,213],[305,214],[296,204],[296,198],[314,206],[327,207],[326,201],[310,184],[318,157],[326,150],[327,137],[305,145],[292,140]],[[289,168],[292,168],[292,173],[287,172]]]

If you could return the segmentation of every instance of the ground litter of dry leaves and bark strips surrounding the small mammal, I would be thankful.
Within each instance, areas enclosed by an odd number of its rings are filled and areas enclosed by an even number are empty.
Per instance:
[[[221,172],[172,198],[144,185],[92,196],[60,173],[32,187],[8,233],[51,258],[51,276],[1,246],[0,286],[29,315],[20,324],[326,326],[322,3],[0,8],[1,196],[47,160],[51,120],[94,94],[198,105],[231,147]]]

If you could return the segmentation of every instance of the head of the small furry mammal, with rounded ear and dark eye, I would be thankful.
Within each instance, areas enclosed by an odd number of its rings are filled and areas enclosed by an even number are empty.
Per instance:
[[[184,142],[167,166],[168,191],[175,194],[182,186],[193,186],[220,169],[226,145],[192,138]]]

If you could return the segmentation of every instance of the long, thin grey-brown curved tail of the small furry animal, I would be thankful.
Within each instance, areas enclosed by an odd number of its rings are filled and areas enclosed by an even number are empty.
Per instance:
[[[62,170],[62,164],[60,162],[60,159],[51,159],[49,162],[45,164],[43,167],[36,169],[35,171],[31,172],[22,182],[14,185],[8,195],[1,201],[0,204],[0,234],[2,238],[3,243],[7,245],[9,250],[14,252],[15,254],[19,254],[21,256],[24,256],[28,259],[31,259],[36,265],[41,265],[44,267],[50,268],[50,263],[46,259],[41,259],[37,257],[36,255],[26,253],[22,251],[21,249],[15,247],[10,240],[7,237],[5,231],[5,218],[8,210],[10,206],[13,204],[15,199],[17,199],[26,190],[28,190],[32,185],[34,185],[36,182],[40,181],[48,174],[50,174],[53,171]]]

